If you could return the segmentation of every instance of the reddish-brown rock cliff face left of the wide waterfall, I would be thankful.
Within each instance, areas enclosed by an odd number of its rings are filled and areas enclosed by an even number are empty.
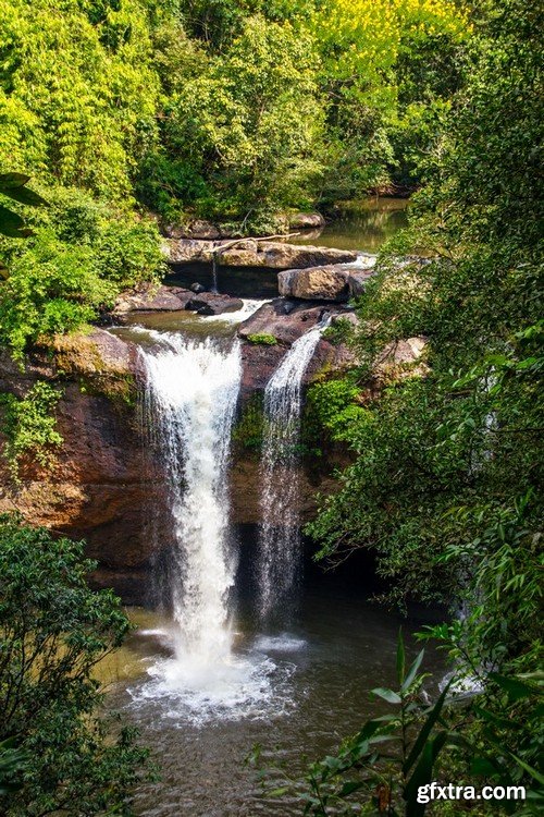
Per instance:
[[[162,497],[161,475],[143,456],[139,438],[137,351],[102,330],[62,338],[54,351],[53,363],[36,354],[24,374],[7,355],[0,361],[4,391],[24,394],[38,377],[62,388],[55,414],[64,439],[51,472],[22,463],[20,486],[0,458],[0,511],[17,510],[33,524],[85,538],[99,561],[96,583],[141,600],[152,553],[141,509]]]

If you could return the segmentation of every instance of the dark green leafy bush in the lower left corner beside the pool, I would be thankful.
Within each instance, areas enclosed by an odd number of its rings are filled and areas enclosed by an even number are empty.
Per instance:
[[[129,624],[110,590],[94,593],[83,544],[53,539],[14,516],[0,521],[0,741],[25,753],[4,780],[9,817],[131,813],[147,752],[98,715],[92,673]]]

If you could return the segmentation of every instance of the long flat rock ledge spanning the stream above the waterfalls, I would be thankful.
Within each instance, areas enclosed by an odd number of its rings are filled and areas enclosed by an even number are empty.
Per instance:
[[[226,267],[268,267],[269,269],[302,269],[325,264],[353,264],[357,253],[284,242],[256,241],[196,241],[190,239],[166,242],[166,257],[171,264],[211,264],[213,257]]]

